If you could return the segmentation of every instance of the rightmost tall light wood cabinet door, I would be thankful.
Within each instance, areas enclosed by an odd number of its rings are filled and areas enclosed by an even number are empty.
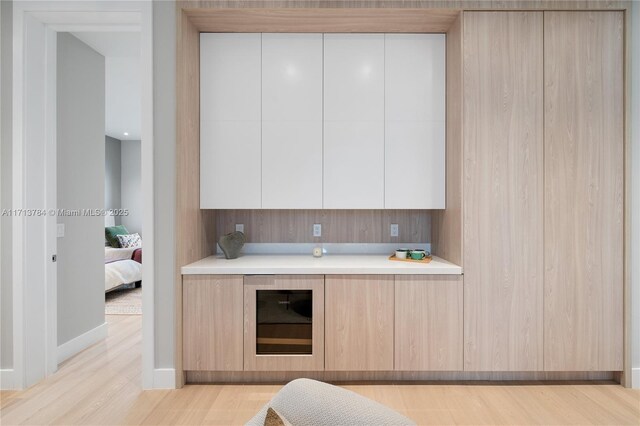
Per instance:
[[[622,370],[622,12],[545,12],[545,370]]]

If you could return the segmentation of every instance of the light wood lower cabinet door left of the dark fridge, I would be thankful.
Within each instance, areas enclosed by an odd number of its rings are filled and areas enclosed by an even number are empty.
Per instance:
[[[182,279],[183,368],[242,371],[242,275]]]

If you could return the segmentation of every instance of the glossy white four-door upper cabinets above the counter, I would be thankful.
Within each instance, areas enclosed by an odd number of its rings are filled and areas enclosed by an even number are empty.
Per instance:
[[[200,39],[201,208],[445,207],[443,34]]]

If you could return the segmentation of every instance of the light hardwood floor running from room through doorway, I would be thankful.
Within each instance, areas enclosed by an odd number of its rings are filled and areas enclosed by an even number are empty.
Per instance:
[[[107,316],[109,337],[22,392],[2,392],[0,424],[242,424],[281,385],[142,391],[141,317]],[[640,391],[615,384],[345,386],[419,424],[640,424]]]

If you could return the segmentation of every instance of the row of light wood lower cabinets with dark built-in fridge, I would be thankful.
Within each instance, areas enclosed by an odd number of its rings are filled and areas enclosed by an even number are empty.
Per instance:
[[[183,312],[188,371],[462,369],[461,275],[185,275]]]

